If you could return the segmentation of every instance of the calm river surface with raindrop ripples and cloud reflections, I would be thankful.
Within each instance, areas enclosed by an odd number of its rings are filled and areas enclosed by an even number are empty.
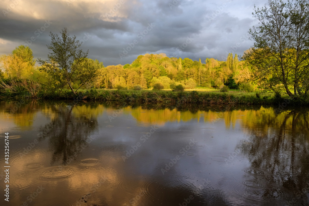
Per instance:
[[[309,205],[307,109],[0,103],[2,205]],[[1,173],[0,173],[1,174]],[[4,172],[0,189],[4,191]]]

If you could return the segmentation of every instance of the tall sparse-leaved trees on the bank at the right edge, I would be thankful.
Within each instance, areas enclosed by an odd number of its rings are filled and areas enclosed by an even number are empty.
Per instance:
[[[308,95],[309,3],[269,0],[269,7],[254,6],[252,15],[260,21],[249,33],[255,41],[245,55],[256,69],[255,76],[265,90],[284,91],[290,97]],[[279,90],[282,85],[283,90]],[[294,94],[290,88],[294,88]]]

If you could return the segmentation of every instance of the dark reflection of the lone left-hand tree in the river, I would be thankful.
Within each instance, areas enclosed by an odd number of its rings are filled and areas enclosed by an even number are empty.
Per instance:
[[[51,164],[60,160],[63,165],[69,164],[91,141],[91,133],[98,126],[96,115],[85,115],[79,109],[83,111],[83,107],[50,106],[53,119],[40,129],[38,139],[48,138],[53,151]]]

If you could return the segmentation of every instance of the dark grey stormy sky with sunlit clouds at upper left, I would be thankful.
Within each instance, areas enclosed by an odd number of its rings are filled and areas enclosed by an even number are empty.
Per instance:
[[[253,45],[248,31],[257,0],[2,0],[0,55],[23,44],[46,59],[49,32],[66,27],[88,57],[104,66],[131,64],[138,55],[225,61]]]

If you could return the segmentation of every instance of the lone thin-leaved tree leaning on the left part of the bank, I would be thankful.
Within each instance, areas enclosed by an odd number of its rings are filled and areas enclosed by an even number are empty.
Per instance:
[[[79,47],[81,43],[75,41],[76,36],[70,37],[64,28],[61,36],[50,32],[51,44],[47,48],[51,51],[44,61],[39,59],[41,69],[50,74],[57,81],[67,84],[72,92],[76,91],[97,76],[98,68],[87,59],[88,51],[85,53]],[[78,88],[73,89],[73,82],[79,81]]]

